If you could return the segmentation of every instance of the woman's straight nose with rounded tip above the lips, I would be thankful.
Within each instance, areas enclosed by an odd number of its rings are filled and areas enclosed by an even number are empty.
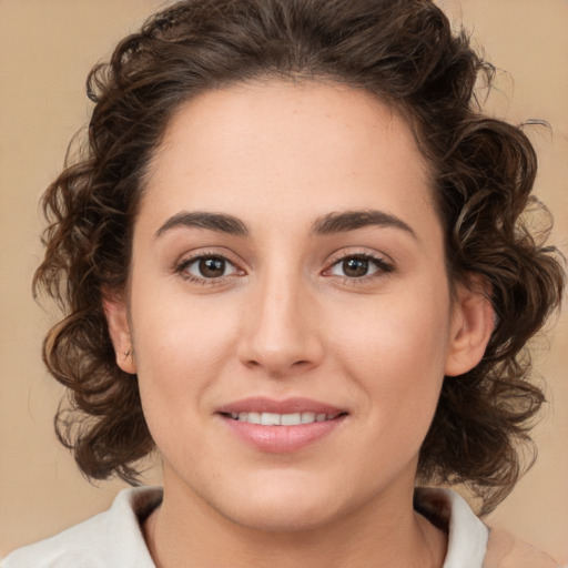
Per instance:
[[[275,282],[277,281],[277,282]],[[250,368],[280,378],[312,369],[324,349],[315,300],[293,278],[260,283],[244,314],[239,357]]]

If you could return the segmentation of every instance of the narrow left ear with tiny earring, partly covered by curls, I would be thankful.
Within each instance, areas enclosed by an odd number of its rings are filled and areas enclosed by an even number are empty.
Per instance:
[[[136,362],[134,359],[126,302],[122,295],[104,292],[102,306],[114,346],[116,365],[125,373],[134,375],[136,373]]]

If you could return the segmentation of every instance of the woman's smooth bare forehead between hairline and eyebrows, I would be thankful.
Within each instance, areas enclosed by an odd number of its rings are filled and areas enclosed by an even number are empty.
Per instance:
[[[379,207],[418,220],[434,209],[429,187],[414,134],[390,106],[336,83],[273,81],[184,103],[151,161],[141,211],[229,209],[307,223]]]

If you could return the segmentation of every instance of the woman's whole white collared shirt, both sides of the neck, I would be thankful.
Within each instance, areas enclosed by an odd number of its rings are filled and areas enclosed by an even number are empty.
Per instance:
[[[155,568],[140,523],[161,500],[162,489],[158,487],[125,489],[105,513],[14,550],[1,568]],[[489,530],[459,495],[449,489],[419,488],[415,507],[448,529],[443,568],[481,568]]]

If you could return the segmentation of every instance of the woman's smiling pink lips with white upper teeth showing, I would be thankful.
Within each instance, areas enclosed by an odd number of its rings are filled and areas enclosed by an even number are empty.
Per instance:
[[[246,445],[261,452],[287,454],[323,440],[348,413],[307,398],[247,398],[222,406],[217,414]]]

